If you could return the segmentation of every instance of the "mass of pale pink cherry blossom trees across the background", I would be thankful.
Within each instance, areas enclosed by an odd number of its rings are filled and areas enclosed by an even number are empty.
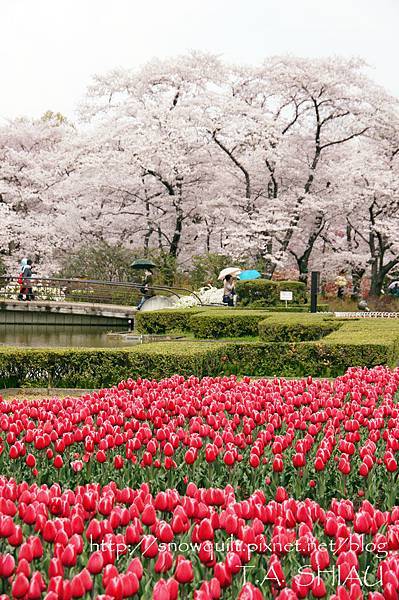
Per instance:
[[[399,263],[397,101],[360,60],[191,53],[97,75],[80,106],[0,129],[0,252],[56,270],[122,244],[190,264],[346,268],[379,294]]]

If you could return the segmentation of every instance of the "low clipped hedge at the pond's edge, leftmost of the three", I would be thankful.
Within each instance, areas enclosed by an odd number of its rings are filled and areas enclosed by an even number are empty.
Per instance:
[[[183,310],[166,309],[148,312],[139,311],[135,316],[135,329],[139,333],[147,334],[189,331],[190,317],[198,312],[201,312],[201,308],[186,308]]]

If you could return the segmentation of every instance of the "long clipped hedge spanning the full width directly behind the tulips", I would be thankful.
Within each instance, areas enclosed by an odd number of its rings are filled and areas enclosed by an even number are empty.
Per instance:
[[[389,319],[336,323],[341,325],[339,330],[311,342],[184,341],[112,350],[4,348],[0,350],[0,388],[99,388],[129,377],[162,379],[175,373],[335,377],[350,366],[397,363],[399,323]],[[295,319],[291,327],[297,331]]]

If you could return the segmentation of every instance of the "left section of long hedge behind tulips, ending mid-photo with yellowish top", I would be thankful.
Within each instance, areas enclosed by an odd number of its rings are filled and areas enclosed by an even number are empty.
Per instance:
[[[120,349],[0,350],[0,389],[100,388],[133,378],[163,379],[179,373],[222,373],[216,344],[144,344]],[[216,362],[215,362],[216,360]]]

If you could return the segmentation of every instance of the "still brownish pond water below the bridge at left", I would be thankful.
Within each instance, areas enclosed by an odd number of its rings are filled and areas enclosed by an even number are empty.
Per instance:
[[[122,336],[109,337],[107,327],[0,325],[0,346],[23,348],[121,348],[139,343],[137,339],[126,340]],[[112,332],[126,332],[126,327],[113,328]]]

